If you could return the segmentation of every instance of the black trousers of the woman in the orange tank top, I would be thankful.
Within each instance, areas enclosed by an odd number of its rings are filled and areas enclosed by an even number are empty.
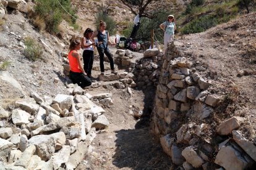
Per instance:
[[[69,78],[74,84],[78,84],[82,88],[90,86],[92,84],[91,79],[88,78],[88,76],[83,75],[83,73],[69,71]]]

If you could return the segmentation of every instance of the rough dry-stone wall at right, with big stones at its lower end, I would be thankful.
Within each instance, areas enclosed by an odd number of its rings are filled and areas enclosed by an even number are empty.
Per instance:
[[[215,123],[209,119],[222,96],[211,93],[214,81],[203,76],[207,69],[189,60],[176,43],[171,42],[163,56],[151,124],[164,152],[184,169],[252,167],[256,147],[236,131],[245,118],[235,116],[216,128],[218,147],[216,139],[205,137]]]

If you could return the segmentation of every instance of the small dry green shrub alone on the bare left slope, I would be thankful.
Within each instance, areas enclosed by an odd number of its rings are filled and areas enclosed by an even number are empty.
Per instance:
[[[27,57],[28,60],[38,60],[43,59],[43,48],[41,45],[33,38],[26,38],[25,39],[25,51],[24,55]]]

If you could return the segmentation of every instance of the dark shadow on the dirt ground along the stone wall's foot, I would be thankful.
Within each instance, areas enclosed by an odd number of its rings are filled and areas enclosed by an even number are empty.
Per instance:
[[[117,168],[170,169],[170,158],[149,131],[155,89],[145,89],[143,92],[143,116],[138,120],[135,129],[116,131],[116,153],[112,163]]]

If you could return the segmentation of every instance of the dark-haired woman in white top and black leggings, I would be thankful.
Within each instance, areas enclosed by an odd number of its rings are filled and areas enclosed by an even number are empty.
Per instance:
[[[83,70],[87,73],[88,78],[92,78],[93,67],[93,46],[95,42],[92,41],[93,30],[87,28],[83,33],[82,47],[83,47]]]

